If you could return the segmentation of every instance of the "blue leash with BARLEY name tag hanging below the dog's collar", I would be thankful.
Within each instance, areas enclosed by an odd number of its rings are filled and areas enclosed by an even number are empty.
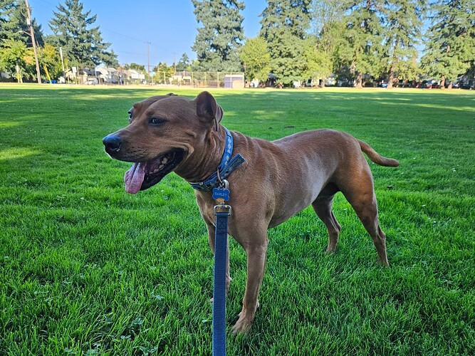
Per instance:
[[[214,290],[213,290],[213,356],[226,355],[226,254],[228,244],[228,217],[231,206],[224,204],[229,199],[228,182],[216,188],[213,197],[221,204],[214,206],[216,228],[214,233]],[[222,198],[226,196],[224,199]]]

